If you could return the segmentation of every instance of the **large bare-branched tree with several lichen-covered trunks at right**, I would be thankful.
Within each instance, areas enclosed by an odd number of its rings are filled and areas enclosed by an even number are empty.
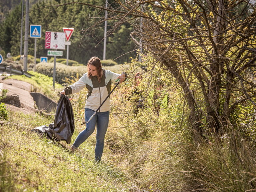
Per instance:
[[[128,0],[98,7],[115,21],[108,34],[125,22],[155,62],[176,79],[190,109],[189,122],[202,134],[230,125],[241,104],[256,105],[255,83],[249,78],[256,60],[256,11],[249,0]],[[142,6],[143,5],[143,6]],[[143,9],[142,9],[143,7]],[[142,19],[141,19],[142,18]],[[143,22],[141,25],[141,21]],[[101,25],[95,23],[83,32]],[[142,30],[141,30],[142,27]],[[141,40],[141,41],[140,41]]]

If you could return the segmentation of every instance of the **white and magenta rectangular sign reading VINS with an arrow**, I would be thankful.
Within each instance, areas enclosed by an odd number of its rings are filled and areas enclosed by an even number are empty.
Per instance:
[[[65,33],[46,31],[45,49],[65,49]]]

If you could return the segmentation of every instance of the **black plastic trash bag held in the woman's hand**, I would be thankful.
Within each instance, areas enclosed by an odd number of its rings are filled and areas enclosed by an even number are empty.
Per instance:
[[[54,123],[49,127],[42,125],[32,129],[32,131],[41,133],[49,139],[56,141],[66,141],[70,144],[71,137],[75,130],[74,113],[68,96],[61,95],[58,101]]]

